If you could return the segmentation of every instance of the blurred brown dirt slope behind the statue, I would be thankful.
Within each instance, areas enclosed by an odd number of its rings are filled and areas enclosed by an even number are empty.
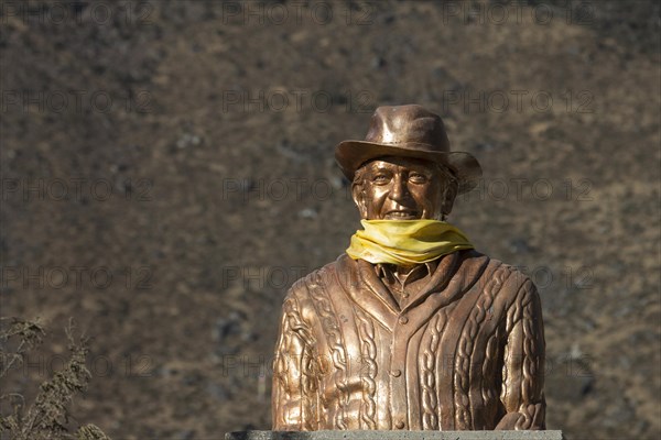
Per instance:
[[[418,102],[485,168],[451,220],[540,287],[549,428],[661,435],[657,2],[1,4],[1,311],[88,329],[77,420],[268,428],[281,300],[358,227],[333,146]]]

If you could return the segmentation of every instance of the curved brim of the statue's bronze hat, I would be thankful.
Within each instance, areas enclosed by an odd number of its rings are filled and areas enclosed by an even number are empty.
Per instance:
[[[425,150],[427,148],[427,150]],[[466,152],[438,152],[424,144],[378,144],[367,141],[344,141],[335,147],[335,161],[344,175],[354,180],[356,170],[366,162],[383,156],[413,157],[445,165],[458,180],[458,194],[468,193],[479,182],[479,162]]]

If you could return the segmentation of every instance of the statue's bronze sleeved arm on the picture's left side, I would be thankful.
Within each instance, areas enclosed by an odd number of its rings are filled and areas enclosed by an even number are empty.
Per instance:
[[[282,307],[273,362],[273,430],[315,430],[317,420],[316,359],[310,326],[299,301],[289,295]]]

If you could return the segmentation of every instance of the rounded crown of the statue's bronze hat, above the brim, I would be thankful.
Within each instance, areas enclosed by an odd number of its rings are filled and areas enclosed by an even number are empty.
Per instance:
[[[449,151],[441,117],[418,105],[377,108],[365,140],[386,145],[407,144],[427,152]]]

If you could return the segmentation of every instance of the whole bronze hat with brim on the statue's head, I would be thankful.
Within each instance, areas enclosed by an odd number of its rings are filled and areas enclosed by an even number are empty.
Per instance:
[[[456,176],[458,193],[475,188],[481,167],[470,153],[451,152],[441,117],[418,105],[379,107],[365,141],[343,141],[335,160],[349,180],[362,164],[377,157],[404,156],[445,165]]]

